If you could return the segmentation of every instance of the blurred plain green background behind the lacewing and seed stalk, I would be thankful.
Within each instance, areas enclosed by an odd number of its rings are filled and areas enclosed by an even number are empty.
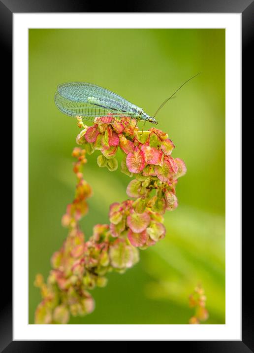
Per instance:
[[[72,324],[185,324],[198,283],[207,296],[205,323],[225,322],[225,31],[29,30],[29,323],[40,301],[34,277],[47,277],[66,237],[61,217],[76,182],[71,152],[80,130],[56,108],[57,85],[92,82],[153,115],[199,71],[157,116],[175,143],[173,157],[187,165],[177,185],[179,207],[165,214],[166,238],[140,251],[125,274],[109,274],[105,288],[91,291],[95,311]],[[129,182],[120,170],[99,169],[97,152],[85,166],[94,190],[81,222],[87,239],[95,223],[108,223],[109,205],[127,199]]]

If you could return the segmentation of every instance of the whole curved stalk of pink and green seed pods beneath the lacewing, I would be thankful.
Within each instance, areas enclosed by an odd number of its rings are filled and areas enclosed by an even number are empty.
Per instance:
[[[91,313],[95,303],[89,290],[105,286],[108,272],[124,273],[132,267],[139,260],[138,248],[145,249],[164,238],[163,214],[177,207],[175,186],[178,177],[186,173],[184,162],[171,156],[173,142],[160,130],[138,131],[136,121],[127,117],[111,125],[105,124],[103,117],[97,118],[91,127],[78,118],[78,126],[83,130],[76,141],[84,149],[76,147],[72,153],[77,158],[73,168],[76,193],[62,218],[69,232],[62,248],[52,256],[47,282],[36,276],[34,284],[41,290],[42,301],[35,323],[64,324],[70,315]],[[119,149],[124,152],[121,171],[132,178],[127,186],[131,199],[113,203],[110,224],[95,225],[93,235],[85,241],[78,222],[88,212],[87,199],[92,195],[82,173],[86,153],[99,150],[98,166],[115,171]]]

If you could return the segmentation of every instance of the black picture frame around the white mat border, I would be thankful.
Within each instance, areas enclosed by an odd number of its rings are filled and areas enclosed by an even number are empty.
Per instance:
[[[125,6],[125,8],[124,8]],[[253,82],[253,56],[251,42],[254,42],[254,0],[160,0],[128,1],[121,8],[119,3],[101,2],[100,12],[199,12],[199,13],[242,13],[242,113],[252,112],[250,105],[253,90],[247,82]],[[12,20],[13,13],[29,12],[97,12],[97,2],[85,0],[0,0],[0,48],[2,73],[8,73],[4,79],[4,106],[2,116],[10,121],[12,106]],[[8,104],[6,104],[8,102]],[[7,108],[8,107],[8,108]],[[5,114],[4,114],[5,113]],[[253,114],[253,112],[252,112]],[[9,126],[6,128],[9,131]],[[7,131],[7,130],[6,130]],[[9,149],[9,147],[7,147]],[[6,150],[5,150],[6,151]],[[9,150],[8,150],[9,151]],[[9,153],[5,154],[9,156]],[[5,157],[7,159],[7,157]],[[9,158],[8,158],[9,159]],[[15,171],[14,171],[15,172]],[[8,195],[8,199],[10,196]],[[254,352],[254,289],[251,273],[252,237],[243,237],[242,255],[242,341],[169,341],[172,345],[181,345],[189,352]],[[1,308],[0,308],[0,351],[1,352],[51,352],[59,349],[61,342],[12,341],[12,239],[4,237],[4,250],[7,256],[1,256]],[[82,342],[75,342],[82,343]],[[64,342],[64,346],[70,342]],[[84,344],[84,343],[83,343]],[[56,346],[57,345],[57,346]]]

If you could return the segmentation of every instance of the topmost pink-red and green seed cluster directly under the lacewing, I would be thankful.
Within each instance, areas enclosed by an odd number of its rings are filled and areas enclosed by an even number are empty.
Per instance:
[[[76,141],[85,145],[90,154],[95,150],[101,151],[97,158],[99,167],[108,167],[110,171],[112,166],[117,169],[115,156],[120,148],[126,154],[122,171],[129,176],[155,176],[162,182],[172,184],[186,173],[184,162],[171,157],[173,142],[166,133],[156,128],[138,131],[136,120],[127,117],[115,120],[111,125],[103,123],[103,118],[100,118],[93,126],[82,126],[84,129]]]

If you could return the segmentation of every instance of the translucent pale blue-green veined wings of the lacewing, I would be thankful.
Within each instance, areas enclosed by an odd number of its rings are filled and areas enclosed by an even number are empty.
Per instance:
[[[114,117],[139,116],[139,107],[123,97],[92,83],[71,82],[58,86],[56,106],[66,115],[82,116],[93,121],[95,117],[111,114]]]

